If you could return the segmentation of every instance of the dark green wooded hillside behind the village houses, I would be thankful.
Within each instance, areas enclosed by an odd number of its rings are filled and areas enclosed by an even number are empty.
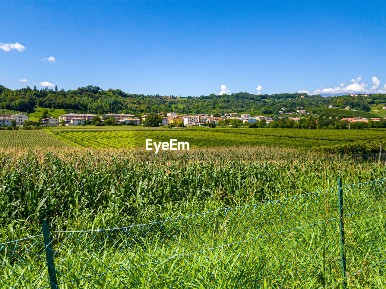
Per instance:
[[[130,94],[120,89],[102,90],[98,86],[88,85],[76,90],[49,89],[38,90],[29,86],[11,90],[0,85],[0,110],[33,113],[36,107],[49,109],[71,109],[94,114],[105,113],[159,113],[174,111],[176,113],[207,114],[258,112],[277,114],[286,107],[286,112],[296,112],[298,107],[321,113],[329,104],[338,107],[350,106],[351,109],[370,111],[369,104],[386,102],[386,94],[359,96],[309,96],[299,93],[250,94],[238,92],[232,94],[199,97],[162,96]]]

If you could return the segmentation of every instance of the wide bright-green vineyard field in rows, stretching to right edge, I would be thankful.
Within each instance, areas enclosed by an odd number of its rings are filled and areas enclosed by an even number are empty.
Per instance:
[[[249,128],[127,128],[111,129],[93,127],[86,129],[53,128],[54,134],[90,148],[141,148],[145,139],[153,141],[187,141],[190,148],[229,146],[285,146],[309,149],[358,141],[380,142],[386,139],[381,130],[331,130],[331,129],[249,129]],[[378,144],[379,147],[379,144]]]

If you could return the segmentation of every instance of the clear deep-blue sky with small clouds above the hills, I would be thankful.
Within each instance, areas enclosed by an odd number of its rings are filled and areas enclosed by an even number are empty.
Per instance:
[[[3,0],[0,84],[178,96],[221,85],[386,92],[384,11],[385,1]]]

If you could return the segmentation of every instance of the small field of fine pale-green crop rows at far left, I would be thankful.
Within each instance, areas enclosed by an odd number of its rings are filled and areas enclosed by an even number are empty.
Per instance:
[[[17,129],[8,130],[0,129],[0,150],[2,148],[12,149],[34,149],[34,148],[51,148],[66,147],[67,144],[48,134],[42,129]]]

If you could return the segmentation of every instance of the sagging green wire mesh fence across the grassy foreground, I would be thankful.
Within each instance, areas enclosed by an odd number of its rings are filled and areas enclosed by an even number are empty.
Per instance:
[[[382,288],[385,184],[3,243],[0,288]]]

